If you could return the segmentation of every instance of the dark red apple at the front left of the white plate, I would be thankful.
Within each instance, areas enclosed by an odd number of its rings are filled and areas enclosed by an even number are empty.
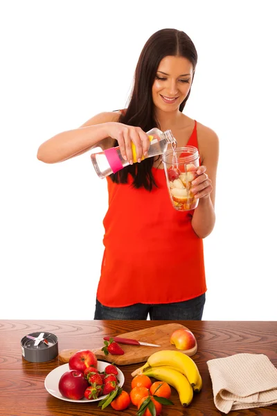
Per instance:
[[[89,387],[89,383],[84,374],[77,370],[66,371],[59,381],[60,394],[68,399],[82,399],[87,387]]]

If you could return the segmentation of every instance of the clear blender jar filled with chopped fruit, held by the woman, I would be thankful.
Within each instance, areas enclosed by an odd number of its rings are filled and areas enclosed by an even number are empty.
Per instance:
[[[177,211],[189,211],[198,205],[191,191],[191,182],[197,177],[199,153],[194,146],[167,150],[163,154],[163,168],[172,205]]]

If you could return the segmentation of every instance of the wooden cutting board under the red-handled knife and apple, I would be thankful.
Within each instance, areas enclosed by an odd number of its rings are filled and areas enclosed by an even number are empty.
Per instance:
[[[105,356],[101,349],[91,349],[96,354],[96,357],[100,361],[107,361],[108,363],[115,363],[116,365],[128,365],[134,363],[142,363],[147,361],[148,357],[154,352],[161,351],[162,349],[172,349],[174,351],[180,351],[188,356],[193,356],[197,352],[197,344],[192,349],[181,350],[177,349],[175,345],[170,344],[170,336],[173,331],[180,328],[186,328],[181,324],[165,324],[157,327],[140,329],[139,331],[120,333],[117,336],[121,338],[132,338],[141,342],[161,345],[161,347],[145,347],[143,345],[126,345],[120,344],[123,349],[123,355],[111,355]],[[103,340],[104,346],[104,340]],[[78,349],[63,349],[59,354],[61,363],[68,363],[72,354],[75,354]]]

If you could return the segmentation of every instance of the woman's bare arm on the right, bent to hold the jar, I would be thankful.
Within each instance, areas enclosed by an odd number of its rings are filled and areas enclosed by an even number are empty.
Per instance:
[[[198,184],[199,204],[192,219],[193,229],[201,239],[211,234],[215,225],[215,182],[219,155],[217,135],[211,129],[205,130],[199,140],[199,151],[202,153],[202,166],[199,169],[204,171],[204,166],[206,167],[204,175],[207,175],[207,179]]]

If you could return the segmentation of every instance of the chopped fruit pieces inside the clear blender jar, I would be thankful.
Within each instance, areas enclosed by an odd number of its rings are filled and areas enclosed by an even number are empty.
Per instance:
[[[188,211],[197,206],[197,199],[190,191],[191,182],[197,176],[196,171],[197,166],[194,164],[186,165],[186,172],[173,167],[168,170],[170,194],[173,204],[179,211]]]

